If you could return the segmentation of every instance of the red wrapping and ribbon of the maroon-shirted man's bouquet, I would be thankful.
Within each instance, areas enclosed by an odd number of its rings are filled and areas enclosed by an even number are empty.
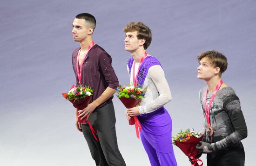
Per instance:
[[[74,87],[76,87],[76,86],[72,86],[70,89],[72,89],[72,88],[74,88]],[[65,99],[67,99],[67,93],[62,93],[62,96],[65,98]],[[85,96],[85,98],[83,98],[83,99],[81,99],[81,100],[68,100],[68,101],[70,101],[72,104],[73,104],[73,106],[75,107],[75,108],[77,108],[78,109],[78,111],[79,110],[82,110],[82,109],[84,109],[84,108],[86,108],[87,106],[88,106],[88,104],[90,103],[90,101],[92,100],[92,96]],[[77,114],[79,115],[79,113],[77,112]],[[88,121],[88,120],[86,120],[87,119],[87,117],[85,117],[83,120],[81,120],[81,117],[78,117],[78,119],[77,119],[77,121],[79,122],[79,123],[88,123],[88,125],[89,125],[89,127],[90,127],[90,129],[91,129],[91,132],[93,133],[93,135],[94,135],[94,138],[98,141],[98,139],[96,138],[96,132],[95,132],[95,130],[94,130],[94,128],[92,127],[92,125],[90,124],[90,122]]]

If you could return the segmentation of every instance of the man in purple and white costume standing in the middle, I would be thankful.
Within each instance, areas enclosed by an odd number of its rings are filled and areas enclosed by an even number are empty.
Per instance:
[[[130,84],[147,89],[140,106],[127,109],[127,119],[138,117],[141,141],[152,166],[177,166],[171,139],[172,120],[163,107],[171,100],[171,92],[160,62],[146,53],[151,31],[142,22],[131,22],[124,32],[125,50],[132,55],[128,60]]]

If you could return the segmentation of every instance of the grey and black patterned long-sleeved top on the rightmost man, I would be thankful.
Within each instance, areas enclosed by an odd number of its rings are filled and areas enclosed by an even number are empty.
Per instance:
[[[207,86],[200,90],[200,101],[204,116],[204,132],[207,119],[204,113],[204,101]],[[207,108],[212,94],[207,94]],[[213,128],[213,135],[205,132],[204,140],[212,143],[214,151],[229,149],[230,146],[240,146],[242,139],[247,137],[247,127],[240,106],[240,100],[235,91],[227,86],[220,89],[212,102],[210,109],[210,125]],[[243,147],[243,146],[242,146]]]

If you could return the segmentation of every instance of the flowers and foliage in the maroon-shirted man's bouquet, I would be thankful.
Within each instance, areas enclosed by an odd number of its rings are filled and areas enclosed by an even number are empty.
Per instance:
[[[74,86],[71,88],[67,93],[67,100],[81,100],[85,98],[85,96],[92,96],[93,95],[93,89],[91,89],[89,86]]]

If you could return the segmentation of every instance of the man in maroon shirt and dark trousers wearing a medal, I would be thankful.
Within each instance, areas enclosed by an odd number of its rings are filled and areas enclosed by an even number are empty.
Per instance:
[[[78,14],[73,22],[74,41],[80,42],[80,47],[72,54],[76,82],[94,89],[92,102],[83,110],[75,109],[75,125],[83,132],[96,166],[126,166],[117,145],[112,103],[119,82],[111,66],[111,56],[93,42],[95,26],[96,20],[89,13]],[[77,121],[77,111],[81,120],[86,118],[96,130],[98,141],[88,123]]]

